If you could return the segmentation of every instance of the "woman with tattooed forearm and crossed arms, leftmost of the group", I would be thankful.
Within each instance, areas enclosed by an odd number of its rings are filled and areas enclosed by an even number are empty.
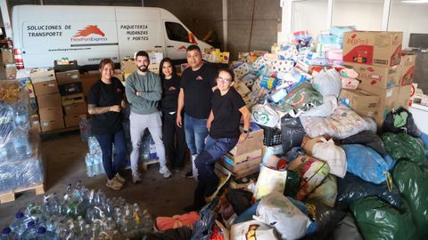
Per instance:
[[[119,171],[126,162],[127,144],[122,128],[121,109],[126,107],[125,87],[113,75],[114,62],[100,62],[101,79],[87,95],[87,111],[92,115],[91,130],[103,151],[103,167],[107,174],[107,187],[119,190],[125,180]],[[114,162],[111,162],[114,144]]]

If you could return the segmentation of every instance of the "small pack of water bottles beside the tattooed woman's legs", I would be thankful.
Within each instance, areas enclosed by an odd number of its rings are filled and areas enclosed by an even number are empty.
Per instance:
[[[87,176],[94,177],[103,174],[103,153],[98,140],[94,136],[88,137],[87,145],[89,147],[89,152],[85,156]]]

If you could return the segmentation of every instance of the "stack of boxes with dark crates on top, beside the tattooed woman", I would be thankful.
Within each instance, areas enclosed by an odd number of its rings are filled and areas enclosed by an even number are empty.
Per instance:
[[[61,94],[65,127],[78,126],[80,116],[86,116],[86,101],[78,69],[56,72]]]

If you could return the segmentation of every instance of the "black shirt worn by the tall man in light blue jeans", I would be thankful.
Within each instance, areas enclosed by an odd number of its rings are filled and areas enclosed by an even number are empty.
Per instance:
[[[207,119],[211,109],[211,88],[217,85],[217,68],[203,63],[196,71],[185,68],[181,76],[181,88],[185,91],[185,114]]]

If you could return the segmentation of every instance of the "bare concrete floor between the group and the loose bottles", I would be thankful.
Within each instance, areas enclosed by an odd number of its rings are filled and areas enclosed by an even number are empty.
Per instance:
[[[147,209],[152,216],[173,216],[184,213],[183,208],[192,203],[194,180],[185,179],[185,171],[175,173],[170,179],[164,179],[159,171],[159,164],[149,165],[148,171],[142,173],[143,181],[134,184],[130,170],[122,175],[128,180],[119,191],[105,186],[106,177],[86,176],[85,155],[88,151],[86,142],[80,140],[78,131],[57,133],[43,136],[42,156],[46,166],[45,191],[63,194],[68,183],[82,180],[86,188],[101,188],[107,197],[122,196],[128,203],[137,203]],[[187,164],[190,169],[190,164]],[[14,214],[31,202],[41,204],[43,195],[36,196],[33,190],[17,194],[16,200],[0,204],[0,228],[5,228]]]

